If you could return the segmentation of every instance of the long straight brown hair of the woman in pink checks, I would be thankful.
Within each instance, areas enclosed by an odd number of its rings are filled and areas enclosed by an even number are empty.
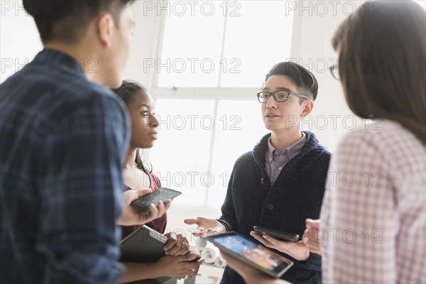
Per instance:
[[[426,143],[426,12],[371,1],[334,34],[346,102],[361,118],[397,121]]]

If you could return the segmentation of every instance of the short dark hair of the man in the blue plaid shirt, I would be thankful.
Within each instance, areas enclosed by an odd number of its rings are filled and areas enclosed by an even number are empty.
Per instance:
[[[33,16],[43,43],[62,40],[76,43],[99,13],[111,13],[119,26],[120,13],[135,0],[23,0],[23,8]]]

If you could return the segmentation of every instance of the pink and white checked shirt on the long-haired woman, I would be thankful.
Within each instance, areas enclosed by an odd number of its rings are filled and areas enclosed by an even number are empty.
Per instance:
[[[323,282],[426,283],[425,195],[425,146],[412,133],[381,121],[346,135],[322,204]]]

